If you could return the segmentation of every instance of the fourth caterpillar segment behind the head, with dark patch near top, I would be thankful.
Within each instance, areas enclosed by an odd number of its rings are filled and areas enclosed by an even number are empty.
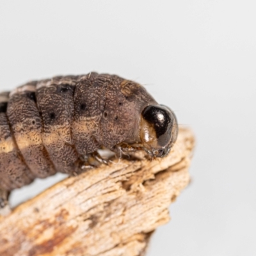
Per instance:
[[[44,147],[42,119],[36,105],[36,82],[24,84],[10,93],[7,116],[24,162],[35,177],[55,173]]]

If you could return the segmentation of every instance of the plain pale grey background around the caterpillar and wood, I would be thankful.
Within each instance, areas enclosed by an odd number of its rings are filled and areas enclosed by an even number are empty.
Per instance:
[[[253,2],[0,2],[1,90],[58,74],[115,73],[146,85],[195,132],[193,182],[149,256],[256,255]],[[15,191],[12,204],[62,177]]]

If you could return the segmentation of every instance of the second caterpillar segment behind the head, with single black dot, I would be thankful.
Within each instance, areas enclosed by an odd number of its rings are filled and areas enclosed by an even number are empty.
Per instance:
[[[105,108],[108,85],[107,77],[94,72],[81,77],[76,84],[72,136],[80,155],[100,148],[100,121]]]

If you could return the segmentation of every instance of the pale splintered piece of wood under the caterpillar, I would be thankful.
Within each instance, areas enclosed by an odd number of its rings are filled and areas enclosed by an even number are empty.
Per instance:
[[[0,219],[0,255],[144,255],[189,182],[193,134],[163,159],[115,159],[69,177]]]

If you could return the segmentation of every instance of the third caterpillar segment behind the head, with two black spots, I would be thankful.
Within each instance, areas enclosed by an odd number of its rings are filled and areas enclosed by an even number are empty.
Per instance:
[[[36,84],[44,147],[57,172],[74,172],[78,154],[71,135],[76,77],[54,77]]]

